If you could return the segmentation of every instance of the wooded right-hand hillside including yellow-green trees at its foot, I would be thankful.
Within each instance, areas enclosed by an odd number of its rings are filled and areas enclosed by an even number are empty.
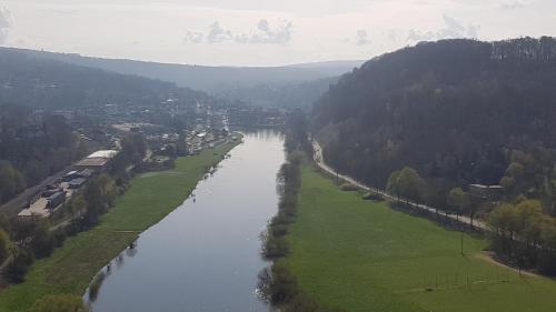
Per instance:
[[[315,103],[311,130],[339,172],[485,215],[500,259],[554,274],[554,38],[424,42],[344,76]],[[502,185],[503,204],[469,184]]]

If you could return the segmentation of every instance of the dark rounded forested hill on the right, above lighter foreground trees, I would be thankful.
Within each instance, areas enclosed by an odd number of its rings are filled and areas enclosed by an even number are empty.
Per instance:
[[[344,76],[314,115],[325,158],[375,185],[405,165],[444,189],[497,184],[510,151],[556,147],[556,40],[419,43]]]

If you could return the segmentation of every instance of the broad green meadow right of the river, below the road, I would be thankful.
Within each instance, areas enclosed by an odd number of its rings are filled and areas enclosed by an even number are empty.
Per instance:
[[[306,167],[285,260],[300,289],[350,312],[554,312],[556,282],[487,262],[485,240],[342,192]]]

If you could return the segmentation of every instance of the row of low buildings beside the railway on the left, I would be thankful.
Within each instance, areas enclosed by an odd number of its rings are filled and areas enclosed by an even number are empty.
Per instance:
[[[118,154],[116,150],[102,150],[80,160],[71,171],[54,183],[48,184],[29,198],[29,205],[19,212],[20,218],[46,218],[58,210],[95,174],[109,169]]]

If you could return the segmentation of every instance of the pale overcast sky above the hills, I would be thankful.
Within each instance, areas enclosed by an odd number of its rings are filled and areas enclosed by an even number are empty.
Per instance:
[[[556,36],[556,0],[0,0],[0,46],[207,66],[367,60]]]

